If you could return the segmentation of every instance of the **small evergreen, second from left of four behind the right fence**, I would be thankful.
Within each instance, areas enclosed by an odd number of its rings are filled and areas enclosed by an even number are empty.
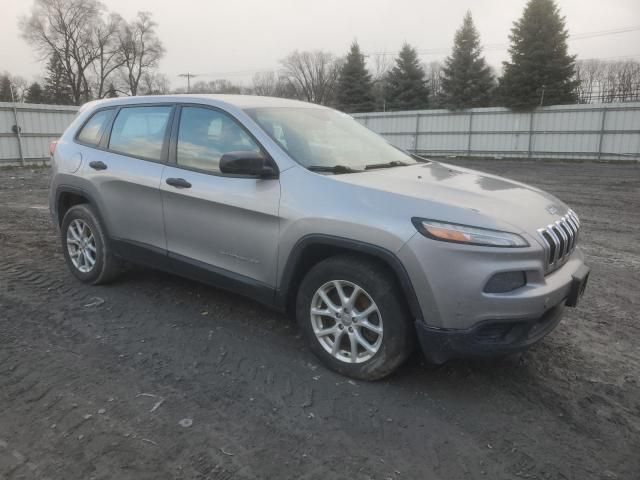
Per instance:
[[[419,110],[429,106],[429,87],[418,53],[404,44],[396,64],[387,74],[385,103],[387,110]]]

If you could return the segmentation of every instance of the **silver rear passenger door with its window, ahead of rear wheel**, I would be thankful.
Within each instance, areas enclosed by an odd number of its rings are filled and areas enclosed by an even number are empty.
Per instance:
[[[119,108],[100,149],[84,163],[92,196],[116,241],[166,251],[160,180],[173,110],[162,104]]]

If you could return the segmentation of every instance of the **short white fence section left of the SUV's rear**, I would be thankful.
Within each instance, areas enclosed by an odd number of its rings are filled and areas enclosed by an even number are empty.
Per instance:
[[[0,165],[46,162],[78,107],[0,102]],[[15,126],[19,126],[17,131]]]

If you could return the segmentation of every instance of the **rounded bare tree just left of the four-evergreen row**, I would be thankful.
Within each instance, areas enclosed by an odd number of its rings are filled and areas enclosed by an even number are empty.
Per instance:
[[[333,101],[341,61],[328,52],[295,51],[281,61],[281,75],[308,102],[329,104]]]

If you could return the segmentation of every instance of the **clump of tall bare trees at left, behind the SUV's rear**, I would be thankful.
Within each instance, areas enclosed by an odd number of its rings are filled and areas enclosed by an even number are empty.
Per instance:
[[[35,0],[19,20],[22,37],[46,61],[43,84],[3,84],[32,103],[80,105],[93,99],[150,93],[164,54],[148,12],[125,20],[99,0]],[[9,91],[11,93],[11,91]],[[5,100],[4,97],[0,97]]]

